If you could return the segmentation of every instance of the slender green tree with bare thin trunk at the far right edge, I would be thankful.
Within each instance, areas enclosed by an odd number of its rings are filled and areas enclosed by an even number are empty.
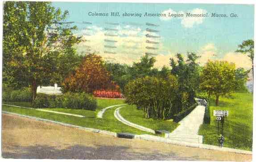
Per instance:
[[[236,52],[241,52],[247,54],[252,61],[252,77],[253,74],[253,57],[254,57],[254,40],[244,40],[241,44],[238,45],[238,50]]]

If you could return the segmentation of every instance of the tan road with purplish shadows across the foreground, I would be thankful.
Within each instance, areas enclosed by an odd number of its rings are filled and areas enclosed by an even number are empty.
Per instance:
[[[2,115],[3,158],[252,161],[252,155],[116,138]]]

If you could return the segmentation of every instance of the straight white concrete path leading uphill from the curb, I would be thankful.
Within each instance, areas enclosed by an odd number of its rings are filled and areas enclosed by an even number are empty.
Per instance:
[[[200,100],[200,99],[197,99]],[[166,138],[172,138],[179,141],[202,143],[202,136],[198,135],[200,125],[203,123],[205,107],[198,105],[189,115],[179,122],[179,126]]]

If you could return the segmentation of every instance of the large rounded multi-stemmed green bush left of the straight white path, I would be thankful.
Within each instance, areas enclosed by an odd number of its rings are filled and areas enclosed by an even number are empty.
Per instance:
[[[125,86],[126,103],[141,107],[146,118],[167,119],[175,110],[178,81],[146,76],[132,80]]]

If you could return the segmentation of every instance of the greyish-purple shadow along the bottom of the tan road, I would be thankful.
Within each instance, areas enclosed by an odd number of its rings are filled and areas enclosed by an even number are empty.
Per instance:
[[[105,160],[198,160],[198,156],[178,157],[175,153],[143,153],[128,150],[128,146],[83,146],[74,145],[66,149],[53,146],[14,146],[16,153],[3,151],[3,158],[36,159],[105,159]]]

